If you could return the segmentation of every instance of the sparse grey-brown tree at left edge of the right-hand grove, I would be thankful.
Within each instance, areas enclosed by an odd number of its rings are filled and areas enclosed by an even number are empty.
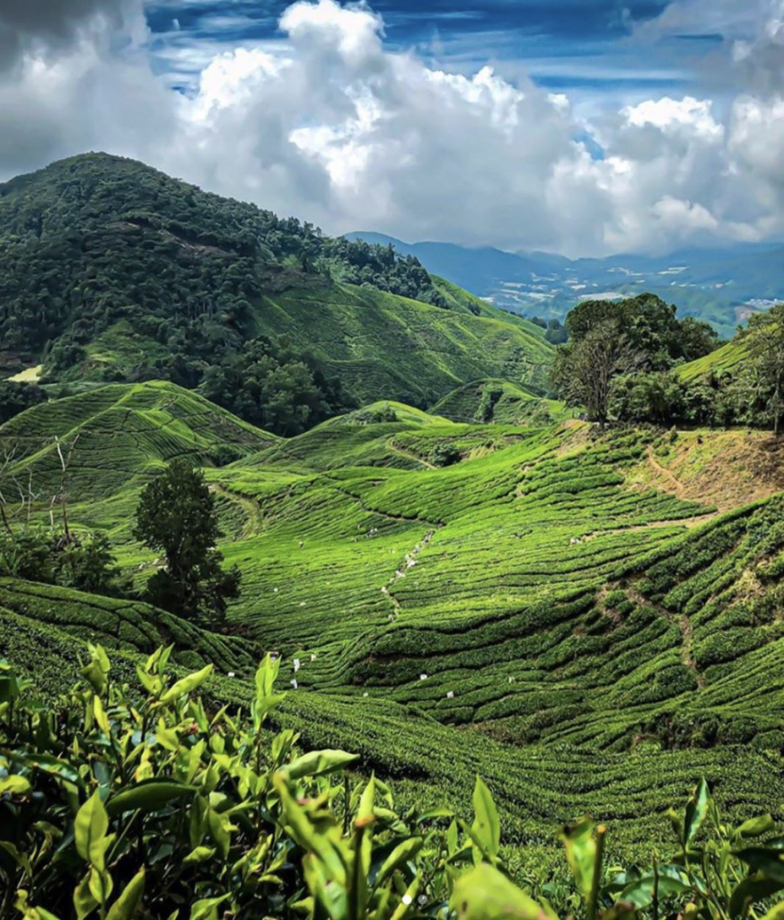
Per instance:
[[[640,354],[622,333],[619,321],[606,319],[558,349],[552,383],[566,402],[585,406],[588,418],[604,428],[613,380],[639,364]]]

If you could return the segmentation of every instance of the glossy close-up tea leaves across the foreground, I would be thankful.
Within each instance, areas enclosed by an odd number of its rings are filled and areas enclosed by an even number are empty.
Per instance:
[[[586,920],[653,911],[704,920],[758,915],[784,888],[769,815],[732,828],[703,780],[676,852],[653,868],[605,865],[604,826],[562,832],[574,889],[522,891],[502,857],[499,814],[479,777],[473,822],[449,808],[395,806],[376,776],[337,750],[301,753],[267,719],[280,661],[256,671],[250,718],[205,693],[211,665],[171,683],[171,649],[137,665],[132,684],[90,646],[82,680],[51,708],[0,660],[0,917],[91,915],[191,920],[301,915],[315,920]],[[522,854],[525,860],[525,850]],[[567,906],[568,905],[568,906]],[[782,905],[772,908],[777,916]]]

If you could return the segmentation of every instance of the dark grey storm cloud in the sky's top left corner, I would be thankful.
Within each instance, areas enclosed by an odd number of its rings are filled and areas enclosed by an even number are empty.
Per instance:
[[[0,69],[27,51],[67,50],[96,17],[119,27],[124,6],[125,0],[2,0]]]

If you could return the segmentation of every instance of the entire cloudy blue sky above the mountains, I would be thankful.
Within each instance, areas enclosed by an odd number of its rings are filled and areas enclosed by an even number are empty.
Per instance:
[[[571,257],[784,237],[784,0],[0,0],[0,181],[88,150]]]

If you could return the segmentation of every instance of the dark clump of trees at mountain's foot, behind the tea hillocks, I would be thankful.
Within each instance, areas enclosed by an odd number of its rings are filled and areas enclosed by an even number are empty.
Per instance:
[[[356,408],[337,378],[285,338],[252,339],[241,352],[211,365],[199,392],[241,419],[291,436]]]

